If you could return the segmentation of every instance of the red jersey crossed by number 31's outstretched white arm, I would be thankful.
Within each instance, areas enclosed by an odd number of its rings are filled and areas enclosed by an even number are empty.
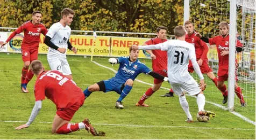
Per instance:
[[[161,40],[160,38],[153,38],[151,40],[146,41],[147,45],[159,44],[166,42],[167,40]],[[156,59],[152,60],[152,68],[154,72],[162,71],[163,69],[167,70],[167,51],[161,50],[152,50]]]

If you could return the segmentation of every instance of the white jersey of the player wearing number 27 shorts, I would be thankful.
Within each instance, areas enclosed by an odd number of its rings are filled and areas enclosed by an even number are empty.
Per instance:
[[[67,42],[70,38],[70,34],[71,34],[71,29],[69,26],[66,25],[66,27],[64,27],[60,24],[60,22],[57,22],[49,28],[46,35],[51,37],[52,38],[51,41],[53,42],[53,44],[55,44],[59,48],[68,49]],[[67,50],[66,50],[66,53],[67,53]],[[66,58],[66,53],[65,54],[60,53],[59,51],[50,47],[48,51],[49,55],[58,56],[60,58]]]

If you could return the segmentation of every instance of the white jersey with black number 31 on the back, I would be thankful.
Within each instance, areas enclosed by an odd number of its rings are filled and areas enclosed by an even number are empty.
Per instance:
[[[161,43],[162,51],[167,51],[168,77],[170,82],[184,82],[191,78],[188,72],[189,59],[195,58],[194,45],[181,40],[169,40]]]

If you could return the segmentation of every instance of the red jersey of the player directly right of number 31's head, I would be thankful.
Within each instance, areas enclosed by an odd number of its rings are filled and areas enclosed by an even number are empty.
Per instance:
[[[209,51],[209,48],[205,42],[203,42],[199,37],[195,36],[196,32],[194,32],[192,35],[186,34],[186,39],[190,44],[193,44],[195,46],[196,51],[196,59],[207,59],[207,53]]]

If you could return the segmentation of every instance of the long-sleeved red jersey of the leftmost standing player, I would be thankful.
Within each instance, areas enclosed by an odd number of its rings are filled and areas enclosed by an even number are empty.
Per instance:
[[[24,31],[24,38],[22,41],[22,49],[31,49],[38,50],[39,42],[40,42],[40,34],[46,35],[47,29],[46,27],[39,22],[38,25],[33,25],[32,20],[25,22],[22,26],[19,26],[18,29],[13,32],[6,42],[9,42],[11,38],[15,37],[16,34],[22,33]]]

